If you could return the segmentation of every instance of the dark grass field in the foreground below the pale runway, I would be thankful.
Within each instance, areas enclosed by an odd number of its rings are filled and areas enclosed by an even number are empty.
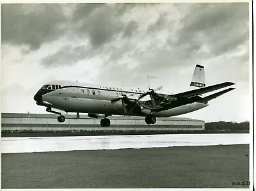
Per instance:
[[[2,188],[248,188],[249,145],[2,154]]]

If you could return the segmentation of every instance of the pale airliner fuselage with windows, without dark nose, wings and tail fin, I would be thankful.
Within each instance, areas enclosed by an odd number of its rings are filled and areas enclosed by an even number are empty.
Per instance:
[[[145,91],[142,91],[145,92]],[[66,112],[81,112],[95,114],[115,114],[127,116],[146,116],[144,113],[124,112],[122,102],[111,103],[111,100],[126,94],[131,97],[138,97],[142,93],[133,91],[118,91],[114,89],[90,88],[90,87],[62,87],[42,95],[42,100],[52,104],[52,107]],[[156,117],[170,117],[196,111],[206,107],[207,104],[195,102],[155,112]]]

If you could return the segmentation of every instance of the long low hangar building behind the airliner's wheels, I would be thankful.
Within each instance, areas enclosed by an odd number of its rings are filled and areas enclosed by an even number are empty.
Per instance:
[[[157,118],[154,125],[147,125],[145,118],[134,116],[109,116],[111,125],[100,126],[100,119],[89,118],[86,115],[66,114],[66,121],[58,123],[54,114],[14,114],[3,113],[1,115],[2,130],[36,130],[36,131],[60,131],[60,130],[204,130],[204,121],[189,118]]]

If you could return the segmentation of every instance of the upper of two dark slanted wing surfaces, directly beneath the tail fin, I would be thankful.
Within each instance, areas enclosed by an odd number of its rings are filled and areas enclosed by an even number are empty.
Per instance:
[[[188,98],[190,96],[202,95],[204,93],[208,93],[208,92],[211,92],[211,91],[216,91],[217,89],[225,88],[227,86],[232,86],[234,84],[235,83],[233,83],[233,82],[223,82],[221,84],[216,84],[216,85],[213,85],[213,86],[207,86],[207,87],[204,87],[204,88],[193,89],[193,90],[186,91],[186,92],[183,92],[183,93],[177,93],[177,94],[172,95],[172,96],[175,96],[176,98]]]

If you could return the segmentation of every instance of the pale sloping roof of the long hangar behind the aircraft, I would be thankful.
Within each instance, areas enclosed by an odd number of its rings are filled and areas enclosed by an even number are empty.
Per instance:
[[[56,118],[55,114],[24,114],[24,113],[2,113],[2,118]],[[67,119],[76,118],[76,114],[65,114]],[[89,117],[86,114],[80,114],[81,119],[88,119]],[[137,116],[109,116],[109,119],[126,119],[126,120],[135,120],[142,119],[144,117]],[[164,121],[204,121],[191,118],[157,118]]]

